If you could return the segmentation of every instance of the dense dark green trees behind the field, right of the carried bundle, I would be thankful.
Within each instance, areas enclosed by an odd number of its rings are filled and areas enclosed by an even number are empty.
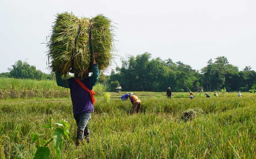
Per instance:
[[[229,64],[226,57],[210,59],[207,66],[200,71],[181,61],[174,63],[172,59],[151,59],[150,53],[129,56],[122,59],[122,66],[105,76],[110,91],[117,85],[123,91],[196,91],[203,87],[205,91],[248,91],[256,87],[256,72],[246,66],[239,71],[237,66]],[[99,81],[103,82],[103,81]]]

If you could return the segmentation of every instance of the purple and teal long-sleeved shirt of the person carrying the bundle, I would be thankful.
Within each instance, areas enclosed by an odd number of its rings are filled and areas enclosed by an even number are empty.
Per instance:
[[[96,84],[98,79],[99,71],[98,66],[93,65],[93,75],[81,80],[81,82],[86,86],[89,90],[93,89],[93,86]],[[73,113],[91,113],[93,112],[93,102],[91,101],[91,97],[89,92],[84,90],[76,81],[74,77],[71,77],[67,80],[61,79],[59,73],[56,73],[56,82],[58,86],[70,88],[71,101],[73,105]]]

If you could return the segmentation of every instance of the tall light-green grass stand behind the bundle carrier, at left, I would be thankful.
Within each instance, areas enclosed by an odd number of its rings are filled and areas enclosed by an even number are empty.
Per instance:
[[[97,83],[94,90],[97,95],[102,95],[106,87]],[[69,89],[57,86],[55,80],[0,78],[0,99],[69,96]]]

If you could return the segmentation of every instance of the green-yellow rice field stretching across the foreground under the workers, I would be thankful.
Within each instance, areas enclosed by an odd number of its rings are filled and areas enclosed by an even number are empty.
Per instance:
[[[31,83],[31,88],[44,89],[39,83]],[[70,124],[70,139],[63,141],[61,158],[256,158],[256,94],[242,92],[238,98],[237,93],[226,93],[215,98],[208,92],[212,96],[208,99],[194,93],[191,100],[188,93],[174,92],[167,99],[165,92],[133,92],[142,100],[142,113],[133,115],[131,103],[119,99],[124,92],[110,93],[109,101],[96,96],[90,143],[75,147],[72,103],[69,91],[62,91],[67,96],[0,100],[1,159],[10,158],[18,144],[24,145],[26,158],[33,158],[37,142],[31,141],[31,133],[40,134],[43,143],[53,130],[42,125],[61,119]],[[185,110],[194,108],[204,113],[191,121],[181,120]],[[49,149],[55,158],[53,143]]]

